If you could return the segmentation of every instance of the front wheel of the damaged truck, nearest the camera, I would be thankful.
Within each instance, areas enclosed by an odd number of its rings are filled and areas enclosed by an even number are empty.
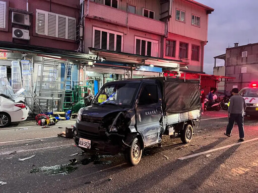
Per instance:
[[[142,158],[142,147],[137,138],[135,138],[131,144],[124,152],[124,157],[126,161],[132,165],[137,165]]]

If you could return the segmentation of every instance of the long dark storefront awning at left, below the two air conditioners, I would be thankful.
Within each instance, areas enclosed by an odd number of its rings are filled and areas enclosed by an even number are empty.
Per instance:
[[[53,49],[40,46],[15,44],[12,42],[0,41],[0,49],[9,50],[12,52],[22,52],[22,53],[34,53],[41,55],[58,56],[65,59],[83,60],[83,61],[98,61],[99,58],[94,54],[84,54],[68,50]]]

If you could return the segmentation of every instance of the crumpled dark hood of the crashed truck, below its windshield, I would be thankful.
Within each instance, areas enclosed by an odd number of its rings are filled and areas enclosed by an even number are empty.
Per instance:
[[[82,111],[82,115],[103,118],[110,113],[127,111],[128,109],[129,108],[121,108],[121,107],[116,107],[111,105],[103,105],[101,107],[92,105],[92,106],[85,107]]]

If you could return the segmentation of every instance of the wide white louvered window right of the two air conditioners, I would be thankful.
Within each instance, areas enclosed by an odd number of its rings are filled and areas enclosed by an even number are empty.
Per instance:
[[[75,40],[76,19],[36,10],[36,33],[56,38]]]

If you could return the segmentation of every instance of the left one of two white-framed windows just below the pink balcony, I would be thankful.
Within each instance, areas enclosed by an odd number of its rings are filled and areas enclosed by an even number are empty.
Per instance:
[[[123,34],[100,29],[93,28],[93,47],[103,50],[110,50],[116,52],[122,52]]]

